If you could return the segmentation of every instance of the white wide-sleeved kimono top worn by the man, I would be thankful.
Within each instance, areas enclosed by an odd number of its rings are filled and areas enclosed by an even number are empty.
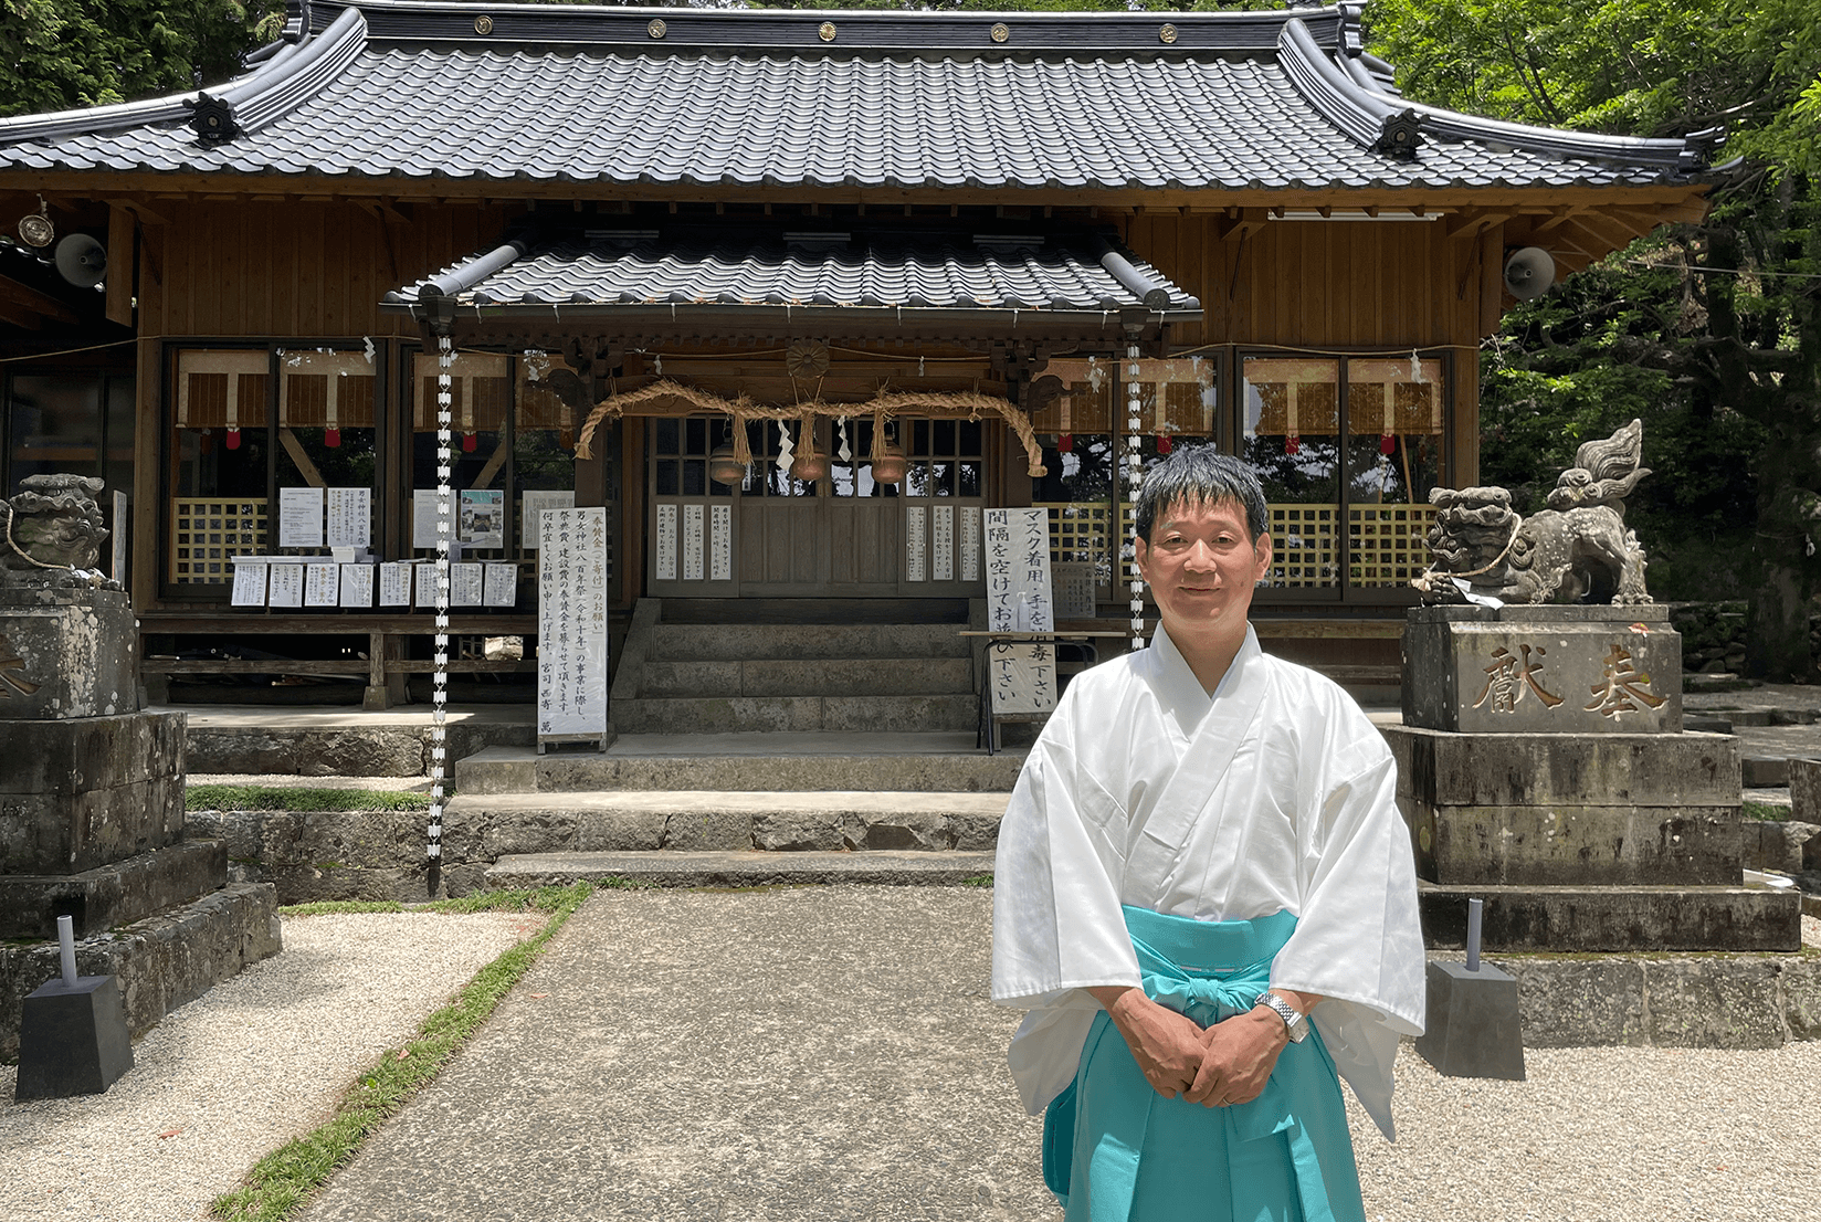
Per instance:
[[[992,998],[1029,1009],[1011,1069],[1029,1111],[1074,1078],[1100,1009],[1138,985],[1120,905],[1198,920],[1287,909],[1273,987],[1317,993],[1340,1076],[1391,1129],[1391,1060],[1424,1022],[1424,951],[1397,767],[1329,679],[1247,626],[1209,696],[1169,636],[1069,685],[1000,825]]]

